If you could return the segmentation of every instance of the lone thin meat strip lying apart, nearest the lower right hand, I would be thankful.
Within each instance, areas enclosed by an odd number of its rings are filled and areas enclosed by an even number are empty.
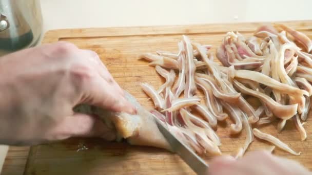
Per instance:
[[[286,145],[285,143],[283,143],[282,141],[280,141],[278,138],[271,136],[269,134],[263,133],[261,132],[259,129],[257,128],[253,128],[253,134],[258,137],[259,139],[268,141],[272,144],[274,144],[275,146],[289,152],[290,154],[299,156],[301,154],[301,152],[296,152],[293,149],[291,149],[288,145]]]

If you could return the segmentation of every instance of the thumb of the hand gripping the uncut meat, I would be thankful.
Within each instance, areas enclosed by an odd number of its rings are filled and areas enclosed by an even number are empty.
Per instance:
[[[49,140],[63,140],[70,137],[100,137],[115,140],[113,128],[107,127],[97,116],[75,113],[65,117],[48,133]]]

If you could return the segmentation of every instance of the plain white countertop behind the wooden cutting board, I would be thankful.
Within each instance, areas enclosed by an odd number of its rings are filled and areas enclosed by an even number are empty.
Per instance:
[[[312,19],[310,0],[41,0],[44,32],[61,28]],[[0,172],[8,150],[0,146]]]

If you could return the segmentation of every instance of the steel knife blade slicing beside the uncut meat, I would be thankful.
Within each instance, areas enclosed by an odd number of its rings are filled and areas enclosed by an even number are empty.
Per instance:
[[[170,144],[173,152],[177,153],[181,159],[197,174],[208,174],[208,164],[199,157],[193,150],[175,138],[168,128],[159,119],[155,119],[158,129]]]

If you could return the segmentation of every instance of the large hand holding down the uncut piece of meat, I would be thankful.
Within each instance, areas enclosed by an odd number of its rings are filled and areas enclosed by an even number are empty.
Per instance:
[[[0,143],[33,144],[73,136],[114,139],[96,116],[77,104],[135,113],[99,56],[67,42],[0,58]]]

